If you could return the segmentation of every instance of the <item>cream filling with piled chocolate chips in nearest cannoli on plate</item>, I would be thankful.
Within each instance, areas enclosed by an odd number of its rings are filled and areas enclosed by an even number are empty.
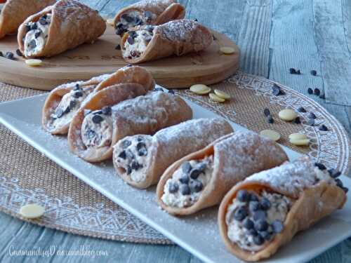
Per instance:
[[[244,250],[262,250],[283,231],[292,204],[293,200],[282,194],[239,191],[225,217],[228,238]]]

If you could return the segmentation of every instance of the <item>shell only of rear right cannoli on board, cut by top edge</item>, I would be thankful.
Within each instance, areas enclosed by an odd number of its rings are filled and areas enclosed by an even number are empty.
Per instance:
[[[161,25],[171,20],[182,19],[185,17],[185,8],[175,0],[146,0],[121,9],[121,11],[119,11],[114,17],[114,25],[120,20],[121,15],[128,11],[139,11],[140,13],[150,11],[156,14],[157,18],[150,21],[149,25]]]

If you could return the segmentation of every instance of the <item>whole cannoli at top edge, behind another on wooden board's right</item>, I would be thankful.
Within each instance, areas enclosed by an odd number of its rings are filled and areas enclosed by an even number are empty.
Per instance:
[[[144,0],[121,9],[114,17],[116,34],[123,36],[138,25],[162,25],[185,16],[185,8],[176,0]]]

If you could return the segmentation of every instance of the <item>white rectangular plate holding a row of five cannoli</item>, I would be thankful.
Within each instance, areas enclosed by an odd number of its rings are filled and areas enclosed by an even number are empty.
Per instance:
[[[121,207],[139,217],[172,241],[196,255],[204,262],[239,262],[225,249],[217,226],[217,207],[190,217],[173,217],[161,210],[155,199],[155,187],[138,190],[125,184],[115,173],[111,162],[93,165],[82,161],[67,149],[65,137],[52,136],[41,129],[41,108],[46,95],[0,104],[0,121],[14,133],[32,144],[63,168],[100,191]],[[187,101],[194,118],[220,118],[213,112]],[[232,123],[235,130],[246,130]],[[284,147],[291,160],[300,154]],[[342,177],[351,189],[351,180]],[[293,241],[279,250],[269,262],[306,262],[351,236],[350,194],[343,210],[326,217],[317,225],[298,234]]]

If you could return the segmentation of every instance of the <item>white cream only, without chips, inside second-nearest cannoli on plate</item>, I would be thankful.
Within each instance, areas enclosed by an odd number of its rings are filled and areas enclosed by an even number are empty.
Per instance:
[[[201,191],[191,191],[191,194],[182,194],[180,187],[183,183],[181,183],[180,177],[184,175],[183,169],[180,166],[176,172],[173,173],[173,176],[167,180],[166,184],[164,185],[164,194],[161,197],[161,200],[168,206],[171,207],[176,207],[176,208],[186,208],[194,203],[196,203],[202,192],[204,191],[206,185],[208,182],[210,182],[212,173],[213,173],[213,156],[208,156],[202,160],[191,160],[190,165],[192,168],[196,167],[198,163],[206,163],[206,169],[204,170],[203,173],[200,173],[199,177],[197,177],[196,180],[199,180],[201,184],[203,185],[203,188]],[[190,185],[192,179],[190,178],[189,183],[187,185]],[[178,184],[178,191],[175,193],[171,193],[169,191],[170,184]]]

